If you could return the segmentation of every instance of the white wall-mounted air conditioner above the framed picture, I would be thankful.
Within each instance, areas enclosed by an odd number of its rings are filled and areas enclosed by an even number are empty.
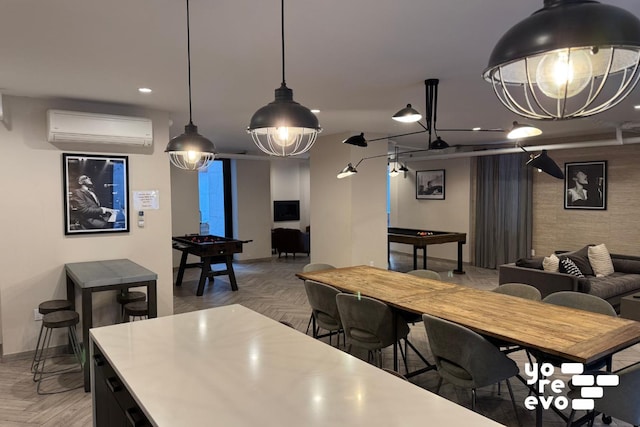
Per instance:
[[[153,126],[144,117],[48,110],[49,142],[87,142],[150,146]]]

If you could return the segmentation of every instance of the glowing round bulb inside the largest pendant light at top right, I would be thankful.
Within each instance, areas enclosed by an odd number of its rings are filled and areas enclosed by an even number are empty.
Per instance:
[[[550,98],[571,98],[593,77],[591,49],[559,49],[542,56],[536,67],[536,83]]]

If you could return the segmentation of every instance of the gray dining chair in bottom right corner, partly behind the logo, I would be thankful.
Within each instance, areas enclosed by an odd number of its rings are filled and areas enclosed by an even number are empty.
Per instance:
[[[611,422],[609,418],[613,417],[638,427],[640,425],[640,393],[638,393],[638,390],[640,390],[640,363],[621,369],[615,374],[618,375],[618,385],[615,387],[603,387],[602,397],[594,399],[594,410],[591,413],[589,425],[592,426],[593,419],[599,413],[602,413],[605,424],[609,424]],[[568,397],[570,399],[580,398],[580,388],[576,387],[571,390],[568,393]],[[574,415],[575,411],[571,411],[567,423],[568,427],[571,427]]]

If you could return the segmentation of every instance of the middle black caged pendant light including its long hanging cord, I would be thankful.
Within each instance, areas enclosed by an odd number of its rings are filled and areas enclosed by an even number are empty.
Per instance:
[[[281,0],[282,83],[275,100],[251,117],[247,131],[263,152],[279,157],[295,156],[308,151],[322,131],[318,118],[307,107],[293,100],[287,87],[284,68],[284,0]]]

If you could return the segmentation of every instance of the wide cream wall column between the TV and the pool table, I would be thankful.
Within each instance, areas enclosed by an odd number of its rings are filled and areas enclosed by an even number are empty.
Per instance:
[[[311,149],[311,261],[387,268],[386,157],[369,159],[354,176],[337,179],[348,162],[384,155],[386,143],[342,144],[348,134],[318,138]]]

